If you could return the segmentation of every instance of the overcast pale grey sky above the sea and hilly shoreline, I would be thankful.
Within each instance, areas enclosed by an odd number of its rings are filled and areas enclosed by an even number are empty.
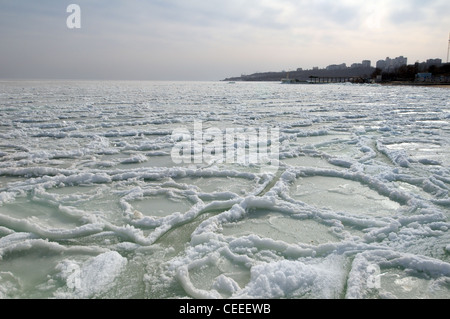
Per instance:
[[[81,28],[69,29],[71,3]],[[448,0],[0,0],[0,78],[221,80],[447,59]]]

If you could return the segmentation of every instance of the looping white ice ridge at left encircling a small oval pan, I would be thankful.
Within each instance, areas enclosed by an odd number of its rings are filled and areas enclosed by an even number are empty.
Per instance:
[[[120,237],[127,240],[131,240],[141,245],[153,244],[161,235],[169,231],[170,229],[177,227],[178,225],[192,221],[200,214],[215,210],[229,208],[232,204],[238,202],[239,196],[232,192],[222,193],[203,193],[198,188],[192,188],[189,185],[176,183],[180,178],[239,178],[243,180],[252,181],[255,183],[255,189],[252,193],[257,194],[264,189],[264,187],[271,181],[270,176],[256,175],[253,173],[238,172],[238,171],[223,171],[214,169],[193,170],[193,169],[136,169],[136,170],[113,170],[113,171],[99,171],[93,173],[78,173],[73,170],[60,170],[53,171],[49,174],[49,171],[37,168],[33,169],[16,169],[11,174],[25,175],[34,174],[35,176],[42,175],[42,177],[35,177],[29,180],[28,183],[14,183],[11,185],[11,190],[14,190],[16,194],[22,194],[24,191],[32,190],[34,200],[44,202],[48,205],[55,205],[57,210],[61,213],[73,218],[77,222],[84,222],[87,224],[78,226],[72,229],[49,229],[48,227],[40,226],[35,220],[23,220],[10,216],[4,216],[0,214],[0,221],[3,225],[15,229],[18,231],[26,231],[33,234],[37,234],[42,238],[58,240],[58,239],[70,239],[89,236],[92,234],[99,234],[101,232],[113,231]],[[92,215],[88,211],[75,209],[67,205],[58,204],[63,199],[61,196],[51,195],[46,193],[46,189],[51,189],[55,186],[77,186],[77,185],[92,185],[92,184],[111,184],[127,182],[129,180],[167,180],[167,178],[173,178],[174,182],[165,182],[161,186],[153,188],[141,188],[135,187],[125,192],[117,192],[120,195],[120,206],[123,209],[124,216],[127,217],[129,224],[124,226],[117,226],[109,222],[101,216]],[[8,199],[13,198],[14,192],[5,192],[5,202]],[[151,195],[167,194],[171,197],[185,197],[188,198],[193,204],[192,208],[185,213],[173,212],[166,217],[144,217],[141,213],[137,212],[130,204],[129,201],[140,199]],[[83,201],[95,198],[97,195],[86,197],[86,195],[72,195],[71,201]],[[203,203],[202,199],[213,200],[210,203]],[[236,199],[233,199],[236,198]],[[69,200],[67,196],[64,197],[64,201]],[[155,228],[149,235],[144,235],[143,232],[137,227]]]

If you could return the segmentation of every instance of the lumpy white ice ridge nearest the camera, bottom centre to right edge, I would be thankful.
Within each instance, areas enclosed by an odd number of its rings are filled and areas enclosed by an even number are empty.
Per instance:
[[[171,263],[171,267],[177,269],[178,282],[186,293],[194,298],[334,299],[342,297],[341,294],[346,291],[345,298],[361,299],[370,297],[373,288],[378,288],[380,296],[388,297],[388,292],[369,284],[371,280],[379,278],[371,278],[374,276],[373,269],[379,271],[376,276],[381,276],[383,272],[389,272],[391,269],[401,269],[412,276],[416,273],[419,276],[428,276],[428,280],[435,281],[444,291],[445,283],[450,278],[449,263],[384,249],[381,246],[346,242],[301,249],[295,245],[289,247],[282,242],[249,236],[234,239],[227,247],[225,244],[213,244],[215,240],[212,238],[206,241],[203,236],[202,243],[193,242],[195,246],[186,255],[186,258],[192,259],[172,260]],[[206,249],[210,253],[205,255]],[[275,261],[258,261],[260,253],[277,251],[278,254],[284,255],[284,258],[278,255],[278,260]],[[198,269],[222,270],[222,265],[226,264],[227,260],[232,260],[234,264],[240,263],[243,269],[247,269],[249,281],[236,281],[233,279],[236,274],[225,269],[222,274],[201,281],[195,276]],[[177,268],[176,265],[180,266]],[[348,274],[349,267],[351,271]],[[209,280],[209,289],[201,288],[205,286],[202,282],[204,280]]]

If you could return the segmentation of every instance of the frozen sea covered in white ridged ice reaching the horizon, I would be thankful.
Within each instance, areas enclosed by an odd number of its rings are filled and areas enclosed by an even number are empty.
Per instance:
[[[2,81],[0,115],[0,298],[450,298],[448,89]]]

